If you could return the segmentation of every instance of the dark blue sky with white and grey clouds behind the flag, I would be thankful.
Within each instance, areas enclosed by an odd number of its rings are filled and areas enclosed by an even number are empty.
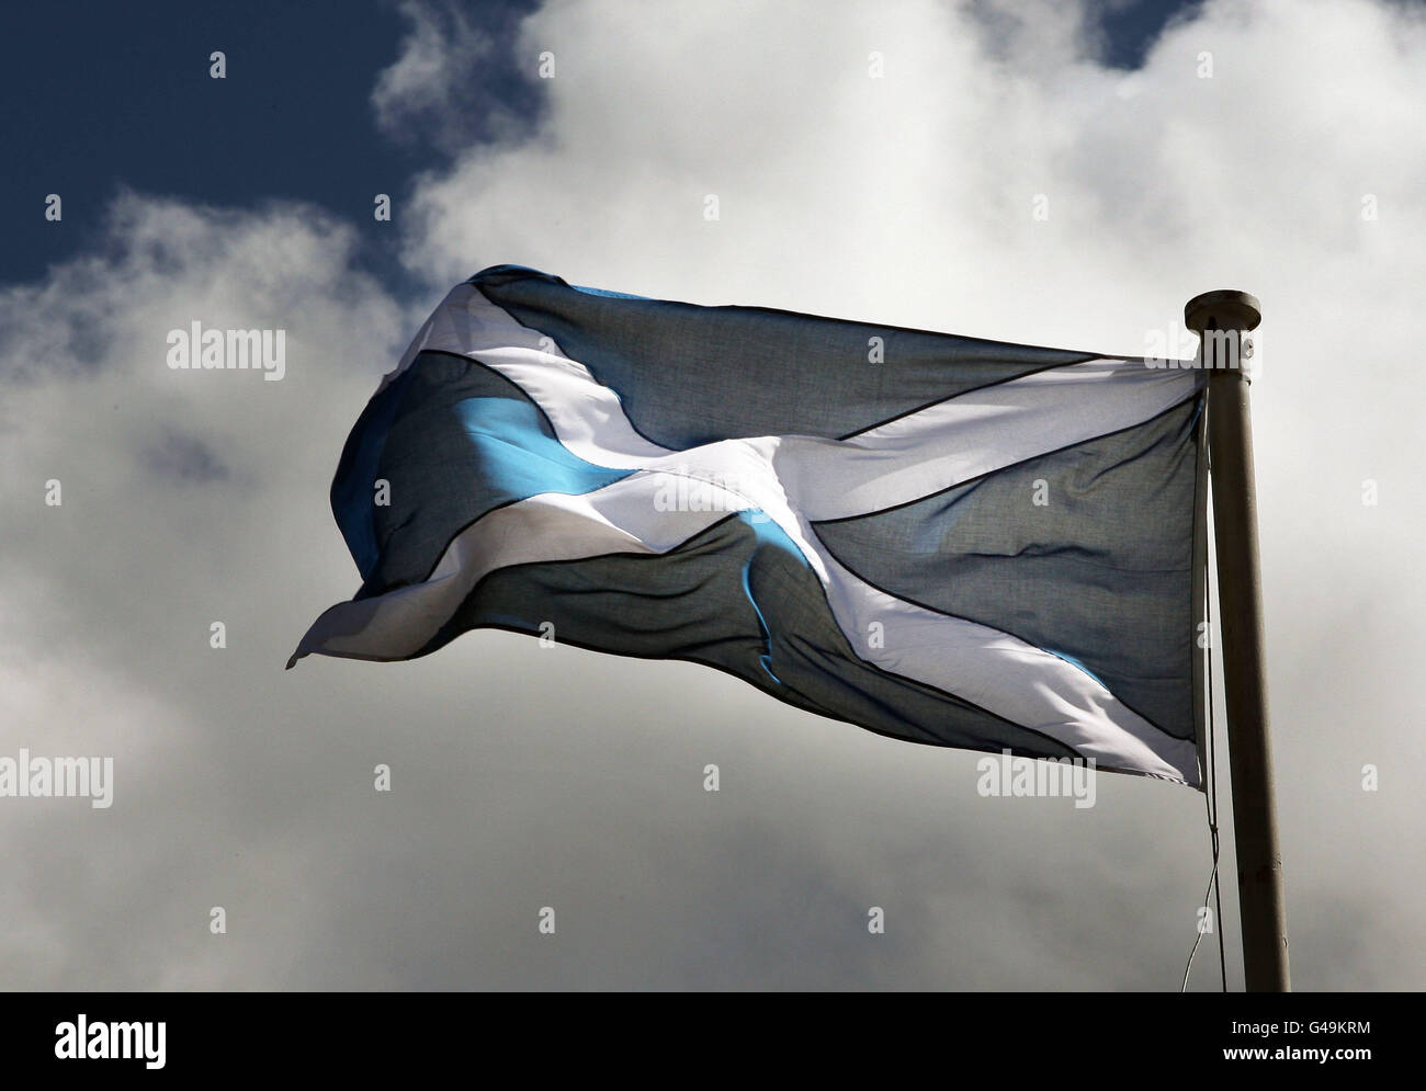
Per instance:
[[[6,21],[0,756],[114,759],[107,809],[0,799],[7,987],[1179,985],[1195,792],[983,799],[975,754],[503,632],[282,670],[358,586],[327,498],[347,432],[445,291],[501,262],[1125,355],[1182,337],[1202,291],[1258,295],[1293,981],[1426,984],[1423,4]],[[170,369],[193,321],[285,329],[285,377]],[[1215,951],[1191,987],[1219,987]]]

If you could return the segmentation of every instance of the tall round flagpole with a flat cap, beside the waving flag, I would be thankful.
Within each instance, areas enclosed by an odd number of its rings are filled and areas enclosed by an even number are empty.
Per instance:
[[[1268,742],[1249,374],[1241,367],[1246,365],[1243,334],[1256,329],[1261,318],[1258,299],[1248,292],[1206,292],[1184,307],[1184,321],[1202,338],[1199,359],[1208,374],[1214,553],[1224,633],[1224,700],[1233,782],[1243,978],[1249,993],[1286,993],[1291,988],[1288,918]]]

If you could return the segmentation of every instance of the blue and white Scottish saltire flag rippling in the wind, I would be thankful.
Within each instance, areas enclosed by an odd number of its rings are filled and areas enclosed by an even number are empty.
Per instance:
[[[553,625],[898,739],[1198,784],[1201,411],[1192,368],[493,267],[352,429],[362,585],[292,662]]]

